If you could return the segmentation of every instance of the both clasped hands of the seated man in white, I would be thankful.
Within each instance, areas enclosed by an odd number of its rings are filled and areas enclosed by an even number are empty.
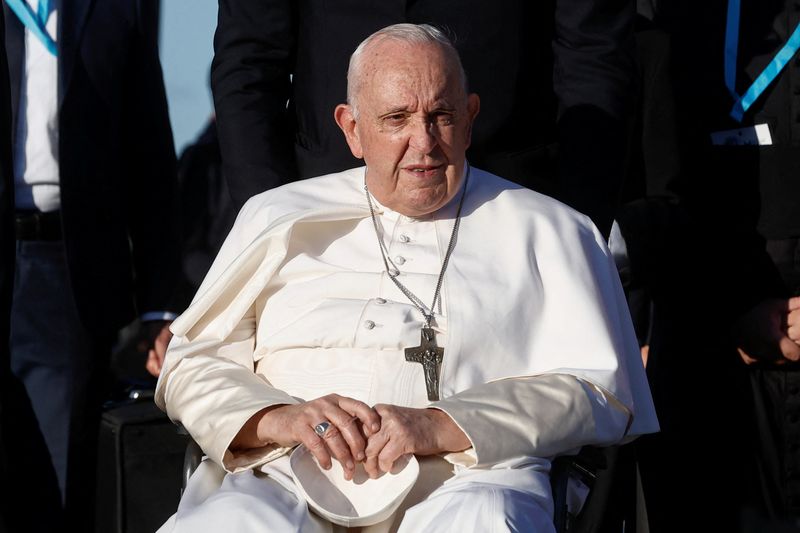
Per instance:
[[[374,479],[408,454],[433,455],[470,446],[452,419],[437,409],[370,407],[338,394],[268,408],[257,416],[259,443],[304,444],[326,470],[333,458],[338,460],[345,479],[353,478],[357,463],[363,463]],[[320,422],[330,423],[322,436],[314,431]]]

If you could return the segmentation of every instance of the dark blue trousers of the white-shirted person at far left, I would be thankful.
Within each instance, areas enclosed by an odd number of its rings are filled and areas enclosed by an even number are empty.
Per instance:
[[[3,425],[20,487],[12,530],[89,531],[110,339],[81,323],[63,243],[17,241]]]

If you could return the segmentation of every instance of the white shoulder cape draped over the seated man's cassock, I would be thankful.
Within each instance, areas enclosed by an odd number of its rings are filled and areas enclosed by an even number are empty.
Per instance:
[[[173,333],[225,339],[281,266],[295,227],[370,216],[363,176],[363,168],[352,169],[251,198]],[[447,351],[458,357],[444,363],[443,384],[455,393],[504,378],[570,374],[630,411],[629,436],[657,431],[619,278],[591,221],[478,169],[467,187],[445,275],[448,302],[459,303],[448,305]]]

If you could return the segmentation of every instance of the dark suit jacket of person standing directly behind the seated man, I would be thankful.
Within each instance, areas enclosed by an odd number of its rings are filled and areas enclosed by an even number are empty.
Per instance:
[[[350,54],[382,27],[425,22],[452,35],[470,89],[481,97],[471,162],[557,192],[601,229],[610,226],[622,174],[633,2],[219,4],[212,88],[225,176],[239,205],[286,181],[359,164],[333,120],[334,107],[345,100]],[[559,137],[565,157],[556,189]]]

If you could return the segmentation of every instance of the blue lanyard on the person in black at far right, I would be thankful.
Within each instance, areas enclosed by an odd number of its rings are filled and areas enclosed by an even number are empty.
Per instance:
[[[725,26],[725,87],[731,93],[735,103],[731,109],[731,117],[741,122],[744,113],[753,105],[761,93],[778,77],[786,63],[800,49],[800,24],[792,32],[783,48],[775,54],[769,65],[753,80],[753,83],[739,96],[736,92],[736,60],[739,49],[739,13],[741,0],[728,0],[728,20]]]

